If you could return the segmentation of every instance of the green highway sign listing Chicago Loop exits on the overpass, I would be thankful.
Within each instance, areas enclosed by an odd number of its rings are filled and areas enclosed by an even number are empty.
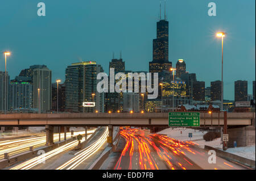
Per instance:
[[[169,112],[169,127],[200,127],[200,112]]]

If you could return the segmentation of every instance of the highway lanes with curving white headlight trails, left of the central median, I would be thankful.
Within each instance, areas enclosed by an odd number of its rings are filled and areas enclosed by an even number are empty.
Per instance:
[[[95,130],[94,130],[95,131]],[[19,165],[10,167],[10,170],[73,170],[82,169],[85,166],[85,161],[88,163],[88,158],[93,157],[93,154],[97,153],[101,149],[102,145],[106,144],[106,138],[108,136],[108,127],[100,128],[100,130],[92,137],[92,139],[86,144],[85,148],[80,151],[75,151],[75,154],[69,154],[73,148],[77,146],[78,141],[72,141],[68,144],[60,146],[54,150],[48,151],[46,154],[39,155],[38,157],[29,159]],[[90,134],[87,138],[89,138]],[[81,142],[85,141],[85,137]],[[93,162],[90,160],[89,162]],[[41,164],[43,163],[43,164]]]

